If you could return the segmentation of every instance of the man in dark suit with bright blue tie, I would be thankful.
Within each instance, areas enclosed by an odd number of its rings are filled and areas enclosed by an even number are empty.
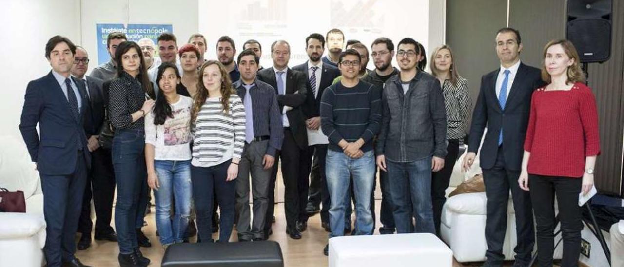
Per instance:
[[[520,62],[521,50],[520,32],[512,28],[497,32],[496,53],[500,68],[481,78],[479,97],[472,114],[468,153],[463,162],[464,170],[472,166],[487,126],[479,156],[487,196],[485,266],[502,266],[504,260],[502,246],[510,190],[517,232],[514,266],[529,265],[535,243],[530,195],[520,189],[518,177],[531,95],[542,86],[542,80],[539,69]]]

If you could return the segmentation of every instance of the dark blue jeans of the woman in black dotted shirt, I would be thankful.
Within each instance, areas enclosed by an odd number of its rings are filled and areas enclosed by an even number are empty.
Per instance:
[[[139,248],[137,221],[143,221],[147,208],[147,170],[144,130],[117,129],[111,149],[117,185],[115,230],[119,252],[130,254]]]

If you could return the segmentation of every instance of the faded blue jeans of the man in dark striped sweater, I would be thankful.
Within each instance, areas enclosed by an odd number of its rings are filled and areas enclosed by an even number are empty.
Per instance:
[[[327,187],[331,199],[331,208],[329,208],[331,233],[329,238],[344,235],[344,210],[348,204],[345,195],[349,191],[349,176],[353,177],[353,189],[356,198],[358,232],[355,235],[373,235],[373,215],[371,214],[370,201],[375,173],[373,151],[364,152],[361,158],[354,159],[347,157],[343,152],[329,149],[325,164]]]

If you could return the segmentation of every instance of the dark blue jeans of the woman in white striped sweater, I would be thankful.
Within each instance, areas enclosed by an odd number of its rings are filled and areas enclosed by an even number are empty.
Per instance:
[[[212,213],[215,194],[221,214],[219,220],[219,242],[228,243],[234,227],[236,180],[226,181],[228,167],[232,160],[210,167],[191,167],[193,200],[197,233],[202,242],[212,240]]]

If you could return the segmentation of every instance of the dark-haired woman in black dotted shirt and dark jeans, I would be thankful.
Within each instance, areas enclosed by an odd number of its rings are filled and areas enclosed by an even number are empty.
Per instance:
[[[143,233],[136,225],[143,221],[147,207],[144,117],[154,105],[154,89],[137,43],[119,44],[115,61],[117,78],[110,82],[108,112],[115,127],[111,153],[117,185],[118,259],[121,266],[145,266],[150,260],[139,250],[137,238]]]

